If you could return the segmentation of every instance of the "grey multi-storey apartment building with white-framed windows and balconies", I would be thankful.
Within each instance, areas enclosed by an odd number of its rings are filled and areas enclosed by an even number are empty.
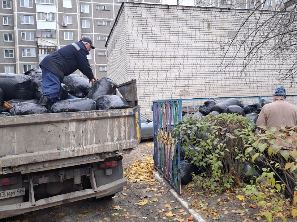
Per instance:
[[[97,77],[107,70],[105,43],[123,1],[143,0],[1,0],[0,72],[24,73],[59,48],[88,36],[96,46],[88,55]],[[265,0],[275,9],[281,0]],[[145,3],[250,9],[251,0],[145,0]],[[262,2],[263,3],[263,2]],[[270,7],[271,6],[271,7]],[[266,9],[266,8],[265,8]]]

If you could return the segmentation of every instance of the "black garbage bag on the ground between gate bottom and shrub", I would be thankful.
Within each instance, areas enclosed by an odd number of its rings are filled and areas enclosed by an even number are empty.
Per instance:
[[[192,173],[194,174],[201,174],[200,168],[197,167],[195,164],[191,164],[190,160],[181,160],[180,161],[180,182],[183,185],[187,185],[188,183],[192,182]]]

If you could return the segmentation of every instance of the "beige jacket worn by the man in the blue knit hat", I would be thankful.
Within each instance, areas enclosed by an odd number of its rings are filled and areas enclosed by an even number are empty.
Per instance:
[[[256,122],[267,128],[297,125],[297,106],[278,99],[262,107]]]

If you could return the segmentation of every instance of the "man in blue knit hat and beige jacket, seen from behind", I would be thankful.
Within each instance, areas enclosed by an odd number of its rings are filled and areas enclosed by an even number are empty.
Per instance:
[[[280,129],[281,126],[295,126],[297,125],[297,106],[288,103],[286,101],[286,90],[283,86],[276,88],[273,94],[273,102],[266,104],[262,107],[259,117],[256,122],[257,126],[266,126],[268,129],[271,127],[276,127]],[[264,155],[267,156],[268,153],[265,150]],[[286,161],[283,159],[283,161]],[[269,166],[263,166],[269,168]],[[275,180],[283,180],[285,184],[285,197],[291,198],[290,191],[294,190],[295,183],[292,180],[287,180],[282,169],[275,167],[274,170],[278,175],[275,175]],[[295,177],[295,176],[293,176]]]

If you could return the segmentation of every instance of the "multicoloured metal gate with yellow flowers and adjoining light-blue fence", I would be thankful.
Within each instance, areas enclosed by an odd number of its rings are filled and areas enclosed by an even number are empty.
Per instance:
[[[201,105],[207,100],[214,100],[217,103],[230,98],[242,102],[258,102],[262,99],[273,100],[273,96],[256,97],[218,97],[200,99],[173,99],[153,101],[153,122],[154,122],[154,165],[181,194],[180,183],[180,143],[179,137],[173,132],[173,128],[184,117],[198,112]],[[297,105],[297,95],[287,95],[286,100]]]

